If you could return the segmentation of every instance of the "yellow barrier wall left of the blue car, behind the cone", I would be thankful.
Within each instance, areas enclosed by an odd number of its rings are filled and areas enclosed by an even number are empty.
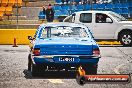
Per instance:
[[[36,29],[0,29],[0,44],[29,44],[28,36],[34,36]]]

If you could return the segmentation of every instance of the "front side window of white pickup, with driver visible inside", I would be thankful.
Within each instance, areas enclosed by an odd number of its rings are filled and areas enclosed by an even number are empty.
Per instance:
[[[96,23],[112,23],[112,19],[106,14],[96,13],[95,16]]]

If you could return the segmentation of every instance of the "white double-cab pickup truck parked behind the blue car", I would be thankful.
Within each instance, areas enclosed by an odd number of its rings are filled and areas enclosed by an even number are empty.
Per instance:
[[[79,11],[63,22],[83,23],[95,40],[117,40],[124,46],[132,46],[132,21],[111,11]]]

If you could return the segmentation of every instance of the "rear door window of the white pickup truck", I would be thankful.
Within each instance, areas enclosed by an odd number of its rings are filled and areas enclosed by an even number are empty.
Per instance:
[[[81,13],[80,22],[82,23],[91,23],[92,22],[92,13]]]

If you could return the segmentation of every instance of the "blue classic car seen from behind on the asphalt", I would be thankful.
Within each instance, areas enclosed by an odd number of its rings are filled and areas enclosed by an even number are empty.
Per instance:
[[[86,74],[97,74],[100,50],[85,25],[42,24],[30,40],[28,70],[33,76],[45,72],[75,72],[82,66]],[[43,72],[42,72],[43,71]]]

